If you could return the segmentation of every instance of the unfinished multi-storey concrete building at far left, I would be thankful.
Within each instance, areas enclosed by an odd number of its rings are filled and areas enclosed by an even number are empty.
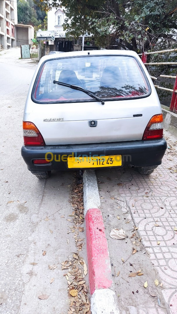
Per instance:
[[[16,46],[15,24],[17,24],[17,0],[0,0],[0,48]]]

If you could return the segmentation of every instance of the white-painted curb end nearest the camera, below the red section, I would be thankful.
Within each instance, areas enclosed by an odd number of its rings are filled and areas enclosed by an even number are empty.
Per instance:
[[[92,314],[119,314],[115,292],[111,289],[95,290],[91,296]]]

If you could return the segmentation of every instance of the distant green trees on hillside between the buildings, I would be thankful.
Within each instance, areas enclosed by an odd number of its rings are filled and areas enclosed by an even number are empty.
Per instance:
[[[41,11],[32,0],[17,0],[18,23],[33,25],[34,27],[44,24],[45,11]]]

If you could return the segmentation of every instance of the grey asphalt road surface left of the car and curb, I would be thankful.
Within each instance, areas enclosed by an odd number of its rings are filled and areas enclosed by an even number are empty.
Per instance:
[[[20,154],[22,120],[36,64],[19,57],[19,48],[0,52],[0,312],[66,314],[60,263],[76,250],[66,221],[73,211],[68,202],[73,173],[56,172],[46,181],[27,170]],[[85,252],[82,256],[86,260]],[[40,300],[43,294],[49,298]]]

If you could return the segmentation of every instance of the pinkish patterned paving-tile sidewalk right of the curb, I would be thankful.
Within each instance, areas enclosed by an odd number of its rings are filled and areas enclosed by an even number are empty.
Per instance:
[[[135,306],[136,313],[177,313],[177,138],[169,132],[164,133],[168,149],[162,165],[150,176],[142,176],[132,169],[97,171],[97,177],[104,181],[99,184],[100,196],[106,196],[107,207],[110,205],[110,197],[119,199],[112,199],[111,202],[115,216],[119,214],[118,210],[125,212],[125,208],[131,214],[158,278],[162,279],[163,287],[160,289],[167,303],[167,310],[162,308],[162,304],[161,308],[156,304],[154,309],[145,312]],[[106,177],[109,185],[101,184],[108,183]],[[101,202],[103,204],[104,200]],[[116,210],[119,206],[120,209]],[[120,225],[120,220],[117,225]],[[160,243],[157,244],[157,241]],[[108,241],[108,249],[110,242]],[[117,258],[117,263],[119,259]],[[134,310],[130,309],[129,313],[134,313]]]

